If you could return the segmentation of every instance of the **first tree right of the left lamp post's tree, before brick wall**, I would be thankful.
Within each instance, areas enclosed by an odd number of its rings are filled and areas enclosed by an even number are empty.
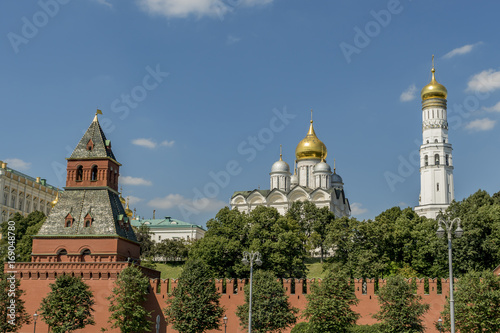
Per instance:
[[[345,273],[329,272],[321,283],[311,286],[306,297],[304,316],[312,333],[349,332],[359,318],[351,308],[359,301]]]

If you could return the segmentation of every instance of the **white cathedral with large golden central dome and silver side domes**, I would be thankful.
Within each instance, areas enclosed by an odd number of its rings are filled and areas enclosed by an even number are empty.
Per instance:
[[[285,214],[295,201],[313,202],[318,207],[328,207],[335,217],[351,215],[349,200],[345,197],[344,183],[326,163],[327,149],[318,139],[313,128],[295,149],[294,174],[290,173],[288,163],[279,161],[271,167],[270,189],[237,191],[231,197],[231,209],[248,213],[257,206],[274,207],[280,214]]]

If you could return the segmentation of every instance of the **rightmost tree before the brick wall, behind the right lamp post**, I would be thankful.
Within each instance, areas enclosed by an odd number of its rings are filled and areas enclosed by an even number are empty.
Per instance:
[[[491,271],[469,272],[456,284],[455,325],[461,333],[498,332],[500,327],[500,277]],[[441,313],[450,331],[450,303]]]

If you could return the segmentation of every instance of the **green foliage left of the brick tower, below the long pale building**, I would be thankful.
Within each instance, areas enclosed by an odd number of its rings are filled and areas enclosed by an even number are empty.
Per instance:
[[[15,230],[9,230],[9,224],[4,222],[1,224],[2,239],[0,240],[0,253],[2,258],[5,260],[8,248],[8,236],[9,231],[14,233],[16,241],[16,261],[18,262],[29,262],[31,261],[31,249],[33,242],[33,235],[36,235],[43,222],[45,221],[45,215],[42,212],[35,211],[28,216],[24,217],[19,213],[14,214],[11,219],[15,222]]]

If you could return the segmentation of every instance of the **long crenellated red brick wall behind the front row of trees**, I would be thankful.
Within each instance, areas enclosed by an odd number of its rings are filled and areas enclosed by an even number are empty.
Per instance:
[[[78,266],[79,264],[65,264],[65,263],[24,263],[19,265],[18,271],[22,272],[18,273],[18,277],[21,278],[21,288],[26,291],[26,295],[24,296],[26,300],[27,311],[30,314],[33,314],[40,306],[40,302],[42,298],[44,298],[47,293],[50,291],[49,284],[54,282],[55,274],[62,274],[63,271],[68,274],[70,271],[77,272],[77,274],[82,274],[85,280],[92,291],[94,292],[94,297],[96,301],[96,305],[94,309],[94,317],[96,321],[95,326],[89,326],[83,330],[79,330],[78,332],[89,332],[95,333],[99,332],[101,327],[110,328],[110,324],[107,322],[109,313],[107,311],[109,307],[109,301],[106,299],[109,295],[111,295],[111,291],[113,289],[113,283],[116,280],[116,273],[121,271],[126,267],[127,263],[100,263],[100,264],[80,264],[80,265],[115,265],[115,266]],[[36,266],[38,265],[38,266]],[[52,265],[52,266],[48,266]],[[73,265],[73,266],[71,266]],[[76,265],[76,266],[75,266]],[[120,266],[120,267],[118,267]],[[123,267],[122,267],[123,266]],[[101,273],[99,276],[95,272],[99,271],[110,271],[112,274],[108,279],[108,275]],[[37,275],[33,272],[35,271],[43,271],[43,275],[41,278],[37,278]],[[90,273],[92,275],[90,275]],[[32,272],[31,278],[27,275],[27,272]],[[151,272],[149,272],[151,273]],[[434,328],[434,322],[439,318],[439,313],[443,310],[443,306],[446,302],[446,296],[449,293],[449,283],[448,280],[442,281],[442,293],[437,294],[437,281],[430,280],[429,281],[429,293],[424,293],[424,279],[416,280],[417,284],[417,294],[423,297],[423,301],[425,303],[430,304],[431,308],[429,312],[424,317],[424,323],[427,327],[426,332],[438,332]],[[292,282],[290,280],[285,280],[283,285],[285,287],[286,293],[289,296],[289,301],[292,306],[299,308],[301,311],[306,306],[306,295],[302,293],[303,283],[306,283],[305,289],[307,293],[310,292],[310,285],[314,280],[295,280],[295,292],[292,293]],[[217,290],[222,293],[221,295],[221,305],[226,309],[226,315],[228,317],[227,324],[227,332],[228,333],[243,333],[246,332],[245,328],[242,328],[239,324],[239,319],[236,316],[236,307],[244,302],[244,293],[243,287],[245,285],[244,280],[238,280],[237,282],[237,293],[234,293],[234,281],[226,280],[226,292],[223,291],[223,282],[222,280],[216,281]],[[382,286],[385,283],[384,280],[379,281],[379,286]],[[171,292],[172,288],[175,288],[177,285],[176,280],[161,280],[161,279],[151,279],[151,292],[148,295],[147,301],[147,309],[149,311],[153,311],[152,319],[156,320],[156,316],[160,315],[160,331],[161,333],[175,333],[176,331],[169,326],[166,327],[165,317],[163,316],[162,309],[165,307],[165,300],[168,298],[168,293]],[[358,321],[358,324],[373,324],[376,321],[372,318],[372,315],[375,314],[379,310],[377,297],[375,295],[375,281],[367,280],[366,281],[366,293],[363,293],[363,281],[355,280],[354,281],[355,293],[356,297],[360,300],[359,304],[354,308],[355,311],[361,314],[361,318]],[[299,319],[299,321],[303,321],[303,319]],[[40,319],[37,322],[37,331],[40,329],[40,332],[47,332],[47,326]],[[21,332],[32,332],[33,324],[26,325],[23,327]],[[109,330],[111,333],[119,333],[118,330]],[[153,330],[156,332],[156,330]],[[220,333],[221,331],[212,330],[210,333]],[[222,325],[222,332],[224,332],[224,326]],[[286,331],[290,332],[290,329]]]

